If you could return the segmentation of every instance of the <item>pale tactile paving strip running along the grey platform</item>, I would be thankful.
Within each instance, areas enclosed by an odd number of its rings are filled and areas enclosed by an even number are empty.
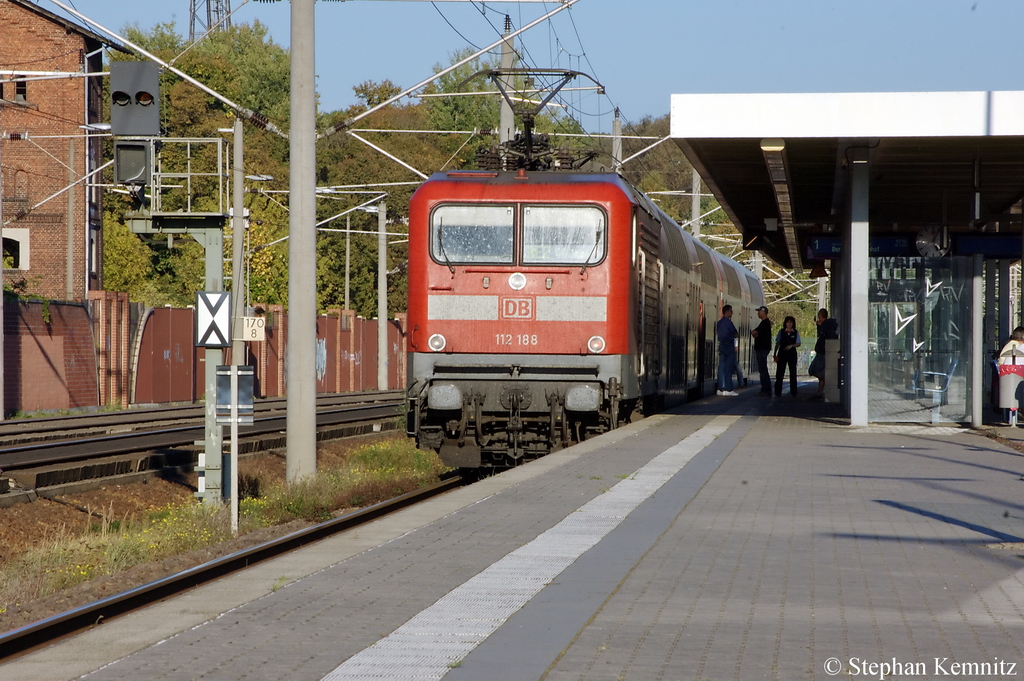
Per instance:
[[[721,416],[353,655],[324,681],[440,679],[738,417]]]

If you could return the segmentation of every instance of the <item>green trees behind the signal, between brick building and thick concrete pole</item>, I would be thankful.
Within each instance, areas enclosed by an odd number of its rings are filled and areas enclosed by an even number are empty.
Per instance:
[[[288,52],[268,37],[266,27],[258,22],[252,26],[234,26],[208,36],[185,51],[186,41],[172,24],[160,24],[144,32],[137,26],[126,29],[128,37],[146,50],[175,66],[197,80],[242,105],[258,111],[281,127],[287,128],[289,115]],[[182,52],[184,52],[182,54]],[[180,55],[180,56],[179,56]],[[114,58],[131,58],[117,54]],[[170,137],[221,138],[221,128],[230,127],[233,112],[218,99],[202,92],[170,73],[161,76],[162,127]],[[104,100],[106,98],[104,97]],[[287,186],[288,142],[280,137],[247,125],[246,174],[269,175],[280,178],[276,186]],[[228,138],[229,141],[229,138]],[[228,143],[227,146],[230,146]],[[193,145],[194,156],[184,154],[185,145],[165,143],[161,153],[163,170],[173,170],[187,164],[204,168],[217,167],[216,145]],[[213,176],[194,180],[193,210],[217,211],[221,207],[221,187],[226,183]],[[266,187],[270,188],[270,187]],[[151,305],[189,305],[196,291],[205,283],[205,254],[190,238],[150,240],[132,235],[124,226],[124,213],[131,209],[127,197],[109,195],[104,202],[103,269],[106,287],[126,291],[132,300]],[[163,195],[164,210],[185,208],[183,190]],[[249,241],[251,247],[269,243],[287,232],[287,213],[280,205],[246,196],[252,213]],[[229,240],[231,230],[225,229]],[[261,241],[265,240],[265,241]],[[229,243],[229,242],[228,242]],[[273,247],[271,247],[273,249]],[[287,253],[287,247],[284,249]],[[263,266],[275,253],[268,250],[256,260],[254,288],[266,292],[267,302],[283,302],[279,268]],[[230,276],[230,272],[227,272]],[[268,281],[262,281],[262,278]]]

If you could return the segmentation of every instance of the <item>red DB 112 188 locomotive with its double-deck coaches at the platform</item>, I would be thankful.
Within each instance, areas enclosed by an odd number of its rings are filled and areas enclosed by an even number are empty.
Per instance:
[[[409,231],[409,431],[451,466],[515,465],[703,394],[725,303],[750,367],[758,280],[617,174],[436,173]]]

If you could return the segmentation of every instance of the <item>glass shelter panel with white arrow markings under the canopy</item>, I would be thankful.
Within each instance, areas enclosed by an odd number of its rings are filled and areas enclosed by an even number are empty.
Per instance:
[[[970,258],[870,258],[868,420],[969,419]]]

